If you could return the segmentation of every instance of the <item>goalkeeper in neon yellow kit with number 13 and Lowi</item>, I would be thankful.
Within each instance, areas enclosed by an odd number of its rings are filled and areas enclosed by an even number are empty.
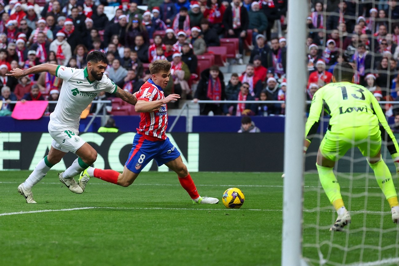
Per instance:
[[[336,65],[332,78],[334,83],[320,88],[314,94],[306,122],[305,151],[310,145],[312,135],[316,133],[323,108],[331,116],[316,162],[323,189],[338,213],[330,231],[342,231],[351,222],[333,167],[354,146],[367,157],[377,183],[391,207],[393,222],[398,223],[399,220],[395,186],[391,173],[381,158],[381,132],[383,135],[387,134],[388,150],[394,161],[399,155],[399,147],[377,99],[365,87],[352,83],[353,76],[354,70],[349,63]]]

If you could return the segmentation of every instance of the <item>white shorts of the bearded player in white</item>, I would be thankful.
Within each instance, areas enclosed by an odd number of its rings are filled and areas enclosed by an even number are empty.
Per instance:
[[[79,130],[76,128],[55,124],[50,120],[48,130],[51,138],[53,138],[51,146],[61,152],[76,153],[86,143],[78,136]]]

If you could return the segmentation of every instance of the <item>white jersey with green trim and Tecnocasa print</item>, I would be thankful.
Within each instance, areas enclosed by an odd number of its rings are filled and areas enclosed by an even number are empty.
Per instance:
[[[117,92],[117,85],[106,75],[101,81],[89,81],[87,68],[73,69],[59,65],[55,76],[64,80],[57,106],[50,114],[50,120],[57,124],[79,128],[81,113],[101,91]]]

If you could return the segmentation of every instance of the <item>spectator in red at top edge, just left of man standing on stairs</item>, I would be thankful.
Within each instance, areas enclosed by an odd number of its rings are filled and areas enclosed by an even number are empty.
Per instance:
[[[217,35],[223,34],[223,16],[226,11],[221,0],[207,0],[203,17],[206,18]]]

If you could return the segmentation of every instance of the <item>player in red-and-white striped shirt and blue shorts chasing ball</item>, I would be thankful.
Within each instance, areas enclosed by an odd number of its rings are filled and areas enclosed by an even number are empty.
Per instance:
[[[83,190],[91,177],[127,187],[133,183],[148,162],[154,159],[158,166],[165,164],[177,173],[180,184],[186,189],[194,203],[216,204],[219,202],[219,199],[201,197],[198,194],[180,152],[165,134],[168,126],[166,104],[180,98],[177,94],[164,96],[162,89],[168,85],[170,68],[171,64],[167,60],[157,60],[150,64],[152,78],[148,79],[136,93],[135,110],[140,112],[141,120],[123,173],[89,167],[81,173],[79,178],[79,186]]]

